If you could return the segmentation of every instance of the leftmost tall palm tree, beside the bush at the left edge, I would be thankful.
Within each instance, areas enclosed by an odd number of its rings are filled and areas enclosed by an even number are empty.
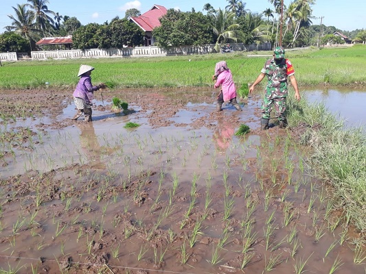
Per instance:
[[[19,33],[21,36],[30,41],[30,48],[34,49],[34,34],[39,32],[36,24],[33,22],[34,13],[32,10],[27,10],[27,4],[17,4],[17,8],[13,8],[15,16],[8,15],[12,20],[12,25],[5,27],[11,31]]]

